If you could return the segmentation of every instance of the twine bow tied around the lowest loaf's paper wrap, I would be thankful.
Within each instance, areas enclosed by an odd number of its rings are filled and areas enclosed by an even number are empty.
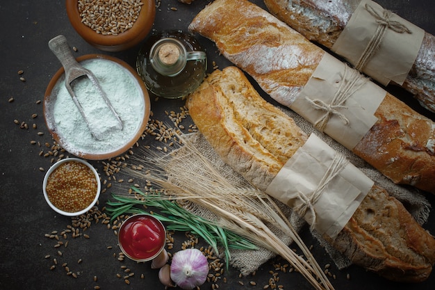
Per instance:
[[[304,193],[298,192],[298,198],[302,201],[297,207],[295,207],[295,211],[299,216],[304,217],[306,212],[309,210],[311,212],[312,220],[311,220],[311,228],[315,227],[315,221],[317,220],[317,216],[315,214],[314,204],[317,202],[322,196],[323,191],[327,188],[328,184],[334,179],[349,163],[346,157],[343,154],[336,153],[334,159],[332,159],[331,165],[327,168],[325,175],[323,175],[320,180],[317,188],[313,191],[313,194],[308,197]]]

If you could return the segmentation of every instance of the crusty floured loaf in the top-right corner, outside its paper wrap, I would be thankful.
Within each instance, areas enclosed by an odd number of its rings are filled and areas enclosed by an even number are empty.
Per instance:
[[[331,48],[359,4],[355,0],[264,0],[270,13],[309,40]],[[435,36],[425,33],[402,87],[435,112]]]

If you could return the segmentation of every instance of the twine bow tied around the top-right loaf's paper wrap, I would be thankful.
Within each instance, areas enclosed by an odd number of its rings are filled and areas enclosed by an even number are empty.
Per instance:
[[[366,3],[366,10],[372,17],[375,17],[375,22],[378,24],[375,34],[372,36],[366,49],[359,58],[359,61],[355,64],[356,70],[362,70],[367,65],[372,56],[374,56],[381,46],[381,42],[384,38],[387,29],[391,29],[397,33],[409,33],[412,32],[404,24],[390,19],[391,11],[384,9],[382,15],[378,13],[375,8]]]

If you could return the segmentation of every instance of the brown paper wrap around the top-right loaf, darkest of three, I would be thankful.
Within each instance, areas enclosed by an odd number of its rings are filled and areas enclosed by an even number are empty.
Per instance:
[[[379,22],[385,23],[384,20],[376,19],[370,15],[366,9],[366,4],[371,6],[379,16],[382,16],[386,11],[373,1],[361,0],[345,29],[331,48],[332,51],[343,56],[352,65],[358,63],[363,51],[368,47],[370,39],[375,35]],[[371,56],[367,65],[359,70],[384,86],[391,81],[402,85],[414,61],[416,61],[425,31],[394,13],[389,13],[388,19],[390,23],[395,24],[400,29],[407,29],[409,32],[400,33],[387,28],[381,38],[379,49]]]

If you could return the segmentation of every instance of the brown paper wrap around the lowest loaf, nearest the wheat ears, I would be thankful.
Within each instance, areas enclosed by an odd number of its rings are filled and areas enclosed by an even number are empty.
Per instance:
[[[266,193],[295,209],[304,206],[325,179],[339,154],[315,134],[288,160],[272,180]],[[347,160],[346,160],[347,161]],[[352,163],[345,162],[327,182],[305,220],[319,234],[335,239],[366,197],[374,182]]]

